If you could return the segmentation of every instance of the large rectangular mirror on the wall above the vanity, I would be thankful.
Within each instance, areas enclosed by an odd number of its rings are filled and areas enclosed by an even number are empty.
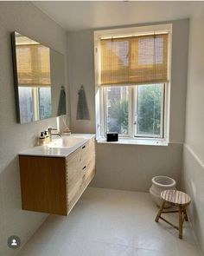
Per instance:
[[[64,56],[17,32],[11,38],[17,122],[66,115]]]

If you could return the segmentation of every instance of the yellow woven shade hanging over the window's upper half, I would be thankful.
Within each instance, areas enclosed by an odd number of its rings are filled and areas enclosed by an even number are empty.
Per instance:
[[[100,84],[168,81],[168,34],[100,40]]]

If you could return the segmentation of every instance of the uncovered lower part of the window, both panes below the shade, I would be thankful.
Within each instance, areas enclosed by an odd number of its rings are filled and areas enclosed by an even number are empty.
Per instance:
[[[104,135],[163,138],[165,84],[104,87]]]

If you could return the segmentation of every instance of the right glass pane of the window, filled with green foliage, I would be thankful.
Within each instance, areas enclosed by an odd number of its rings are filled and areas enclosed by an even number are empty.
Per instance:
[[[139,85],[137,89],[137,135],[161,134],[163,84]]]

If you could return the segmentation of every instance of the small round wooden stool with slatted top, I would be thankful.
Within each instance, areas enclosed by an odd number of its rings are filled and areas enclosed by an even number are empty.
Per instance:
[[[156,215],[155,221],[158,222],[159,219],[162,219],[165,222],[167,222],[170,226],[175,227],[175,229],[179,231],[179,238],[182,239],[182,224],[184,220],[188,221],[186,207],[190,204],[191,199],[189,195],[178,190],[164,190],[161,193],[161,198],[163,200],[162,205]],[[178,211],[163,211],[166,202],[170,203],[173,206],[178,207]],[[175,226],[168,220],[165,220],[161,216],[162,213],[179,213],[179,226]]]

